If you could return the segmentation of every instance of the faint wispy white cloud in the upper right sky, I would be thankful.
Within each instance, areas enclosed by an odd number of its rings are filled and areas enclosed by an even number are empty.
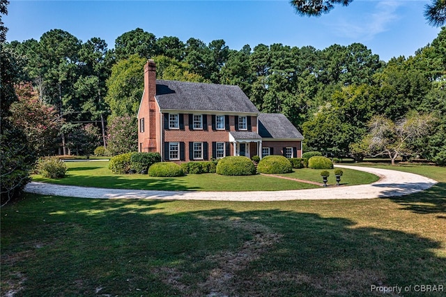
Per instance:
[[[346,20],[344,17],[331,26],[338,36],[371,40],[387,31],[392,22],[399,20],[397,10],[402,5],[403,1],[378,1],[370,13],[360,13],[354,20]]]

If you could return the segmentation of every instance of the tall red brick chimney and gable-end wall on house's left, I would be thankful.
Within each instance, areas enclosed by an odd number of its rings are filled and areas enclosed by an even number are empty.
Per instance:
[[[139,130],[138,143],[139,151],[157,151],[156,142],[156,64],[149,59],[144,66],[144,96],[138,113]],[[141,125],[144,125],[141,130]]]

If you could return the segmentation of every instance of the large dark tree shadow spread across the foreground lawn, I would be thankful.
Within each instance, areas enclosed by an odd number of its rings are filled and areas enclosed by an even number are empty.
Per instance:
[[[380,296],[371,285],[445,284],[440,243],[313,213],[28,195],[2,209],[1,227],[2,291],[24,296]]]

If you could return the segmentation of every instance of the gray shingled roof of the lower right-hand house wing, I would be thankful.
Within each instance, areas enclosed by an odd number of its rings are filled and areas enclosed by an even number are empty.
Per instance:
[[[283,114],[259,114],[259,135],[276,139],[304,138]]]

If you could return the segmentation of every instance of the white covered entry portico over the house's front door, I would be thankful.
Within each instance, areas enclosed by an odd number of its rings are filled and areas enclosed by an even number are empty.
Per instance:
[[[262,137],[256,132],[229,132],[229,142],[233,144],[233,155],[261,156]]]

